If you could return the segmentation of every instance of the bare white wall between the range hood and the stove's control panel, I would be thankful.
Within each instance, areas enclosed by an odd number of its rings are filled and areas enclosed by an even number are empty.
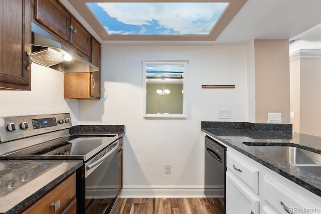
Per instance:
[[[66,113],[77,125],[78,100],[64,99],[63,73],[33,63],[31,91],[0,91],[0,117]]]

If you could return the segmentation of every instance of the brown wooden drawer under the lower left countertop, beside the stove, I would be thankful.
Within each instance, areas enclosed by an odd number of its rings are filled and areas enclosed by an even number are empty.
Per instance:
[[[23,213],[60,213],[76,198],[76,173],[72,174],[41,199],[36,201]],[[52,208],[52,203],[60,201],[60,206],[56,211]],[[72,203],[73,204],[73,203]]]

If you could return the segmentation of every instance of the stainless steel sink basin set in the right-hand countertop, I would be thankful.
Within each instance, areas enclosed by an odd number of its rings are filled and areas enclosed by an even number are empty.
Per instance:
[[[294,146],[248,145],[289,164],[321,164],[321,154]]]

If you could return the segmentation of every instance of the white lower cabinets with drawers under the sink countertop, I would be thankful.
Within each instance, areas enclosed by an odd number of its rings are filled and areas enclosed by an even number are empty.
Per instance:
[[[226,210],[227,214],[321,213],[321,197],[227,147]]]

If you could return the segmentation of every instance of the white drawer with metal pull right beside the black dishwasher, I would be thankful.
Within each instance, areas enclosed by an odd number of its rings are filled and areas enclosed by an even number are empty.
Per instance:
[[[237,175],[247,185],[249,185],[256,194],[259,193],[259,171],[251,162],[237,153],[227,153],[227,170]]]

